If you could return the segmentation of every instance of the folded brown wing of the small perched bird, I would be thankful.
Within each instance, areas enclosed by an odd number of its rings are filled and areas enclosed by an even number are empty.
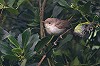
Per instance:
[[[69,22],[67,20],[56,20],[55,26],[58,27],[59,29],[67,28],[69,27]]]

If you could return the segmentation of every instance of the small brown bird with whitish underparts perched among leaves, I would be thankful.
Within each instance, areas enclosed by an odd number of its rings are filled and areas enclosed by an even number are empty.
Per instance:
[[[50,35],[60,35],[69,27],[69,21],[57,18],[47,18],[43,23]]]

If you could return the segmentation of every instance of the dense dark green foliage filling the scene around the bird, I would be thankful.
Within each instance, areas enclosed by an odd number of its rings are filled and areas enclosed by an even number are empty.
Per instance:
[[[39,9],[37,0],[0,0],[0,66],[37,66],[45,55],[41,66],[100,65],[99,0],[47,0],[44,20],[71,22],[58,42],[40,39]]]

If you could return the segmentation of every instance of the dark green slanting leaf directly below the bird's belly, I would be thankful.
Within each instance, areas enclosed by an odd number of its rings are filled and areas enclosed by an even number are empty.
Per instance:
[[[35,46],[35,51],[36,52],[40,51],[50,41],[51,38],[52,36],[48,36],[41,39],[41,41],[39,41],[37,45]]]

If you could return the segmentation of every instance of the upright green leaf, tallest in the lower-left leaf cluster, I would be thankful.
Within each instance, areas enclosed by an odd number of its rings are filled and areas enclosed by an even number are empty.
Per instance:
[[[22,47],[25,48],[27,46],[28,40],[31,36],[31,30],[30,28],[26,29],[23,33],[22,33]]]

